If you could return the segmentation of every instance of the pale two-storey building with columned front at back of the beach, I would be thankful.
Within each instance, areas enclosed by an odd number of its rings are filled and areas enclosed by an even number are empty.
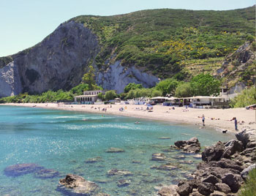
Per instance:
[[[83,91],[83,95],[75,96],[75,102],[86,103],[86,102],[96,102],[98,95],[102,93],[105,94],[105,91],[95,90],[95,91]]]

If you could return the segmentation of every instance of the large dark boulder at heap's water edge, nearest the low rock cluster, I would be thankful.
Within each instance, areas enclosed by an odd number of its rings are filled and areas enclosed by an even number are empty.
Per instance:
[[[222,154],[224,152],[225,152],[225,146],[221,141],[219,141],[214,146],[210,146],[203,151],[202,159],[205,162],[219,161],[219,159],[221,159]]]

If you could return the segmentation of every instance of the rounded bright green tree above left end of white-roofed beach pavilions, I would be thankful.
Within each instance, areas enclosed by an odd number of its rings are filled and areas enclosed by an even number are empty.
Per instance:
[[[172,78],[168,78],[166,80],[162,80],[157,83],[156,89],[162,91],[162,95],[166,96],[166,94],[173,93],[178,86],[178,81]]]

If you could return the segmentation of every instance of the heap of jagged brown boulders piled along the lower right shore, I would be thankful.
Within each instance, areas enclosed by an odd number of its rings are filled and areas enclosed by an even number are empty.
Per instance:
[[[255,133],[255,129],[244,128],[236,135],[238,140],[218,142],[206,148],[202,153],[203,162],[191,175],[193,179],[178,183],[178,195],[236,195],[249,170],[255,168],[256,147],[252,147]],[[178,145],[184,146],[184,143]]]

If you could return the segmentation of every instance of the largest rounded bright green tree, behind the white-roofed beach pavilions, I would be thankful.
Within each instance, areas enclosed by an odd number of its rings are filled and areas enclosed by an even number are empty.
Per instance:
[[[192,78],[190,85],[194,91],[194,95],[201,96],[217,96],[219,95],[219,80],[209,74],[199,74]]]

